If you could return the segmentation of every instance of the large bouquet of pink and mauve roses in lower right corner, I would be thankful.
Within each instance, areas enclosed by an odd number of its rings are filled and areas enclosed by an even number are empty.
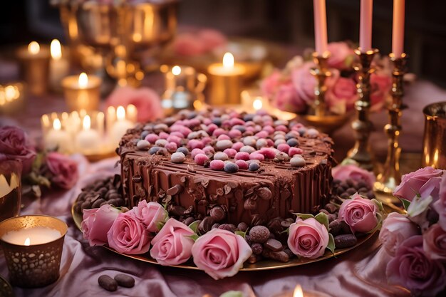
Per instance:
[[[388,282],[414,296],[437,296],[446,287],[446,171],[425,167],[405,174],[393,194],[407,214],[389,214],[380,231],[392,257]]]

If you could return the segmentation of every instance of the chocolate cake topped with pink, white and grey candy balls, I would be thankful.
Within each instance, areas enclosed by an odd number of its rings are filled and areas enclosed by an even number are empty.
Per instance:
[[[142,199],[167,204],[183,222],[207,221],[204,229],[315,213],[330,197],[332,144],[264,112],[184,110],[124,135],[123,194],[128,207]]]

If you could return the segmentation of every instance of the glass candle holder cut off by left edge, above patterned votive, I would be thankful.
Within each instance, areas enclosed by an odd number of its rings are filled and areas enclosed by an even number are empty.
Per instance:
[[[20,214],[21,162],[0,162],[0,222]]]

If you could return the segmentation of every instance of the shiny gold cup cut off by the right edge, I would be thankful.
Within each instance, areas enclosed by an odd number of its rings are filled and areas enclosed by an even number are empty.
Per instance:
[[[446,102],[427,105],[422,113],[425,114],[422,167],[446,170]]]

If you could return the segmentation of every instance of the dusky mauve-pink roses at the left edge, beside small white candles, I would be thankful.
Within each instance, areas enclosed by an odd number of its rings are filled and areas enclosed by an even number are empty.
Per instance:
[[[22,192],[41,196],[41,187],[71,189],[78,181],[78,165],[58,152],[38,152],[24,130],[0,127],[0,161],[19,160],[22,164]]]

